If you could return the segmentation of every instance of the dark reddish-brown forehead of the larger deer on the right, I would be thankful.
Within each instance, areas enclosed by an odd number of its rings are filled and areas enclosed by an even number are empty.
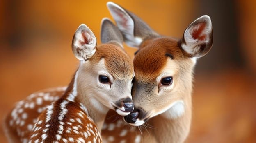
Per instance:
[[[174,62],[184,58],[178,40],[173,38],[147,40],[142,44],[133,61],[135,78],[155,81],[167,64],[168,58],[173,58]]]

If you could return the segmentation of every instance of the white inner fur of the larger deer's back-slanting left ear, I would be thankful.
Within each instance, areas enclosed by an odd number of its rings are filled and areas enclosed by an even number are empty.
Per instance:
[[[134,36],[133,18],[122,7],[113,2],[107,2],[107,8],[117,23],[119,30],[123,33],[126,44],[130,47],[139,47],[142,43],[142,38]]]

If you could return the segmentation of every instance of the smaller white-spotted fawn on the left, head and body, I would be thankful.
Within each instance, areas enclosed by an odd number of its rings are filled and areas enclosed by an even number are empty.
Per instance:
[[[93,32],[84,24],[78,27],[73,37],[72,51],[80,60],[80,65],[73,79],[59,99],[57,97],[50,106],[41,109],[43,111],[34,126],[27,125],[27,129],[32,130],[30,139],[21,138],[19,141],[101,143],[100,132],[107,111],[113,109],[120,115],[128,115],[133,111],[130,94],[133,62],[123,50],[120,31],[106,18],[102,21],[101,41],[105,44],[96,46]],[[15,134],[11,133],[14,130],[9,129],[14,124],[24,126],[25,119],[30,118],[30,113],[26,113],[25,109],[34,109],[35,104],[42,105],[42,101],[46,101],[43,98],[55,99],[41,94],[36,102],[21,101],[7,116],[9,141],[16,141],[13,140]],[[18,127],[16,131],[19,136],[25,134]]]

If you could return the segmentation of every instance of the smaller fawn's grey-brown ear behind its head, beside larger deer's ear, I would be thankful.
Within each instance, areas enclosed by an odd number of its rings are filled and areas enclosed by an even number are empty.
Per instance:
[[[123,48],[123,35],[108,18],[101,20],[101,43],[111,43]]]

